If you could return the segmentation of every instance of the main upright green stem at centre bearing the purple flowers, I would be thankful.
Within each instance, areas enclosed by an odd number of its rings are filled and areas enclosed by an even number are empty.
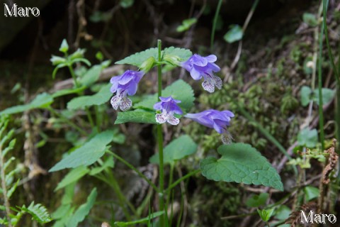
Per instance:
[[[162,61],[162,41],[158,40],[158,61]],[[162,65],[157,66],[158,97],[162,96]],[[157,141],[159,153],[159,211],[164,211],[164,164],[163,164],[163,132],[162,125],[157,124]],[[164,215],[159,217],[159,225],[164,226]]]

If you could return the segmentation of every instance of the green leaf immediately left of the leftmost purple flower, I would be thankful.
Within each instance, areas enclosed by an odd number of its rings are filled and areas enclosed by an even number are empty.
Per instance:
[[[94,106],[105,104],[112,96],[110,91],[111,84],[106,84],[99,92],[93,95],[80,96],[72,99],[67,103],[67,109],[84,109],[85,106]]]

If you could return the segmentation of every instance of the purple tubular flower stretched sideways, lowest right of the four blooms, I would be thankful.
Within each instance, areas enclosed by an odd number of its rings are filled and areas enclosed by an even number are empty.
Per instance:
[[[216,111],[209,109],[198,114],[186,114],[186,118],[200,123],[208,128],[214,128],[217,133],[222,134],[223,143],[231,143],[232,136],[227,131],[227,126],[230,125],[230,120],[234,117],[232,111]]]

